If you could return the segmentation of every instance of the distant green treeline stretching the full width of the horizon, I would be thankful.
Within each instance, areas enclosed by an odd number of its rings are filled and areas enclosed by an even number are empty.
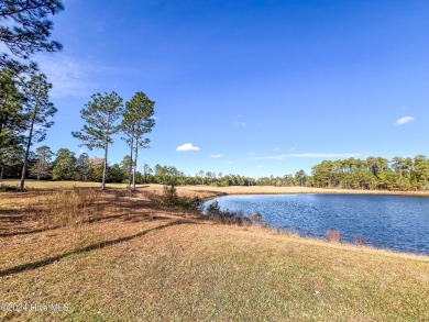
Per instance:
[[[22,154],[0,157],[0,178],[19,177],[22,169]],[[89,157],[86,153],[78,157],[67,148],[53,153],[48,146],[41,146],[29,157],[29,178],[43,180],[101,181],[103,159]],[[133,165],[130,156],[120,164],[108,166],[108,182],[129,182]],[[295,175],[251,178],[240,175],[200,170],[187,175],[174,166],[147,164],[136,171],[136,184],[163,185],[209,185],[227,186],[278,186],[278,187],[318,187],[345,189],[384,190],[427,190],[429,179],[429,159],[418,155],[415,158],[395,157],[392,160],[382,157],[366,159],[348,158],[323,160],[312,167],[311,175],[304,170]]]

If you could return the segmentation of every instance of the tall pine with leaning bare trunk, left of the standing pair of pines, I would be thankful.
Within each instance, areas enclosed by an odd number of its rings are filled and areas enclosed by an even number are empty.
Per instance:
[[[24,121],[29,129],[26,141],[26,149],[24,155],[24,165],[21,176],[21,191],[24,190],[26,168],[29,162],[30,147],[32,141],[42,142],[46,136],[46,129],[51,127],[54,122],[47,120],[56,113],[56,109],[50,102],[50,89],[52,85],[47,82],[46,76],[33,75],[23,86],[23,95],[25,98]]]

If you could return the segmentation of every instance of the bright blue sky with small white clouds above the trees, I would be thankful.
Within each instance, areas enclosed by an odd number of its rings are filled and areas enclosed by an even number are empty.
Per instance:
[[[283,176],[322,159],[429,155],[428,1],[64,4],[53,33],[64,51],[35,57],[54,85],[54,151],[78,155],[79,110],[114,90],[156,101],[140,168]],[[127,153],[117,137],[110,164]]]

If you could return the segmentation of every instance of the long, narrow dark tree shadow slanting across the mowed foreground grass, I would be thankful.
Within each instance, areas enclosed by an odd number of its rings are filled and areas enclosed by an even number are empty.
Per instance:
[[[138,237],[141,237],[141,236],[144,236],[144,235],[148,234],[150,232],[160,231],[160,230],[163,230],[163,229],[166,229],[166,227],[169,227],[169,226],[174,226],[174,225],[179,225],[179,224],[195,224],[195,222],[194,221],[189,221],[189,220],[176,220],[176,221],[173,221],[173,222],[169,222],[169,223],[166,223],[166,224],[163,224],[163,225],[150,229],[150,230],[142,231],[142,232],[136,233],[136,234],[131,235],[131,236],[121,237],[121,238],[117,238],[117,240],[110,240],[110,241],[103,241],[103,242],[100,242],[100,243],[91,244],[91,245],[86,246],[86,247],[80,248],[80,249],[76,249],[76,251],[68,252],[68,253],[65,253],[65,254],[61,254],[61,255],[57,255],[57,256],[48,257],[48,258],[43,259],[43,260],[37,260],[37,262],[33,262],[33,263],[22,264],[22,265],[12,267],[12,268],[8,268],[8,269],[4,269],[4,270],[0,271],[0,277],[6,277],[6,276],[19,274],[19,273],[23,273],[23,271],[26,271],[26,270],[37,269],[37,268],[47,266],[50,264],[53,264],[56,260],[63,259],[65,257],[68,257],[70,255],[88,253],[88,252],[91,252],[91,251],[95,251],[95,249],[102,249],[102,248],[108,247],[108,246],[112,246],[112,245],[116,245],[116,244],[119,244],[119,243],[122,243],[122,242],[128,242],[128,241],[131,241],[131,240],[134,240],[134,238],[138,238]]]

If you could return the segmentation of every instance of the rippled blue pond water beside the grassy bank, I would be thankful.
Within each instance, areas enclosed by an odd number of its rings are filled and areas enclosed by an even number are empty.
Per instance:
[[[429,198],[373,195],[227,196],[222,210],[260,212],[270,227],[301,236],[326,237],[340,231],[343,241],[429,255]]]

